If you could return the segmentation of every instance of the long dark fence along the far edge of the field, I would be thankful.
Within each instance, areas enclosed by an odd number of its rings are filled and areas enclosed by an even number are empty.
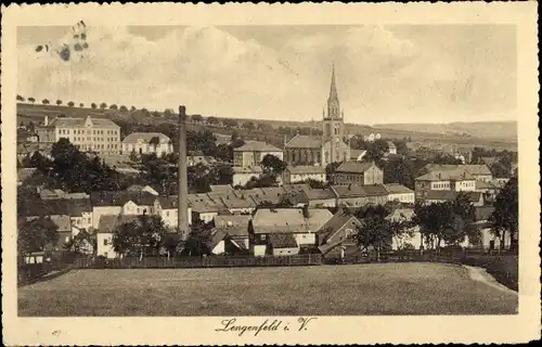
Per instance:
[[[79,258],[74,267],[79,269],[165,269],[165,268],[231,268],[231,267],[281,267],[318,266],[322,256],[307,254],[284,257],[217,256],[217,257],[152,257],[152,258]]]

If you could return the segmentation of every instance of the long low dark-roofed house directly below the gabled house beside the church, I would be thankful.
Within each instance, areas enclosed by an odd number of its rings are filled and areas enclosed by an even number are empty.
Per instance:
[[[362,207],[369,204],[384,205],[388,202],[388,191],[383,184],[332,185],[337,196],[337,207]]]

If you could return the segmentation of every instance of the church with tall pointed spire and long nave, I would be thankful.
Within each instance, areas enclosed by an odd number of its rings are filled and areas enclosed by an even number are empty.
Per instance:
[[[335,85],[335,67],[333,67],[327,113],[323,111],[322,136],[297,134],[287,141],[284,144],[284,162],[292,166],[325,167],[334,162],[350,160],[350,145],[346,142],[344,115]]]

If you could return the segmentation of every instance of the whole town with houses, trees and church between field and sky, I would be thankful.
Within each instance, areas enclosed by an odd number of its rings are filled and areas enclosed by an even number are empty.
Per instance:
[[[345,262],[517,245],[517,152],[446,152],[347,132],[334,69],[322,118],[309,129],[186,115],[184,106],[150,115],[162,125],[116,123],[104,112],[138,111],[17,102],[23,265],[302,255]],[[256,129],[271,138],[282,130],[283,143],[240,134]]]

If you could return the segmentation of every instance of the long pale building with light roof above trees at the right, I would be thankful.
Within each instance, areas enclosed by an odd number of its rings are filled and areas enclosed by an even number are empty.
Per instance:
[[[455,170],[430,171],[414,181],[416,200],[424,200],[428,191],[475,191],[476,179],[468,171]]]

